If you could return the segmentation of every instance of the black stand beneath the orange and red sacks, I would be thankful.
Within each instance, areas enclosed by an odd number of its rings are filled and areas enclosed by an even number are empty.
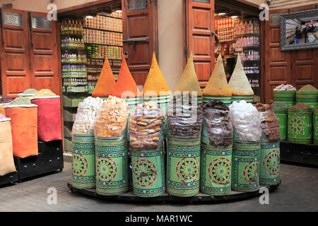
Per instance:
[[[64,168],[62,141],[38,142],[39,155],[14,157],[18,181]]]

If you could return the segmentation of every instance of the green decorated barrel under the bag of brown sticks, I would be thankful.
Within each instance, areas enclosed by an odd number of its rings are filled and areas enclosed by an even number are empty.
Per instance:
[[[139,197],[165,193],[165,155],[163,145],[153,149],[131,148],[133,192]]]

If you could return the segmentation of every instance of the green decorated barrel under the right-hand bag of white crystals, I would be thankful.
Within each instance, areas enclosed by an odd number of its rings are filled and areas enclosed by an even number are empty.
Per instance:
[[[261,141],[233,141],[232,190],[259,190]]]

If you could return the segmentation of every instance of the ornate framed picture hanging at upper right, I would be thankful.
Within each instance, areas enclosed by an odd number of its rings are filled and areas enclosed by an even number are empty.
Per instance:
[[[318,48],[318,9],[281,14],[281,50]]]

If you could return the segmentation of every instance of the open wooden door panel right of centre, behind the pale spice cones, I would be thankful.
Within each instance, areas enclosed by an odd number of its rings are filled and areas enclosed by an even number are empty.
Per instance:
[[[214,0],[187,0],[184,3],[184,66],[193,54],[201,88],[211,77],[215,65]]]

